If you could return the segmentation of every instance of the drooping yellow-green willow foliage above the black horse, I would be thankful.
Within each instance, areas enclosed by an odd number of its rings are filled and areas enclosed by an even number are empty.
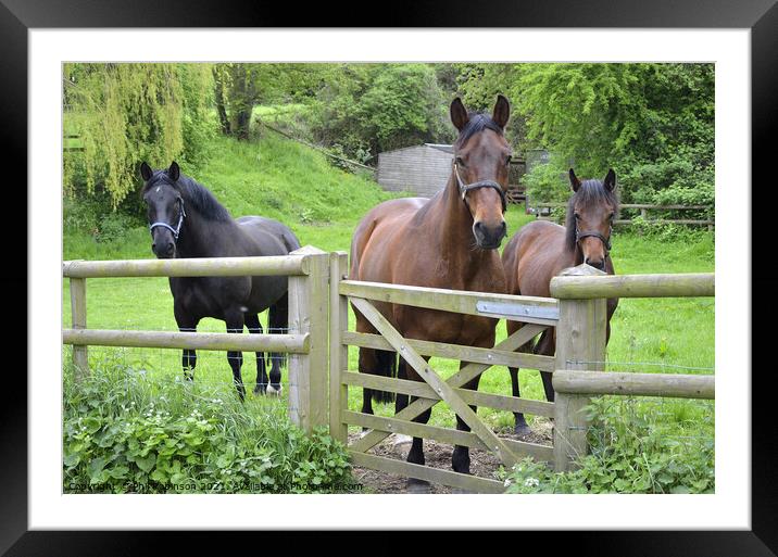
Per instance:
[[[66,195],[115,210],[139,186],[141,161],[195,165],[213,126],[205,64],[66,64],[63,153]]]

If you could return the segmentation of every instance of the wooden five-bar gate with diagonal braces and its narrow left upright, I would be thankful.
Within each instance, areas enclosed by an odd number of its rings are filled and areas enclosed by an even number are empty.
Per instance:
[[[506,412],[523,412],[553,417],[554,404],[462,389],[491,366],[553,371],[553,356],[517,353],[516,349],[559,321],[559,302],[554,299],[512,296],[419,287],[346,280],[348,255],[334,253],[330,259],[330,434],[347,444],[352,463],[400,476],[475,492],[502,492],[501,482],[451,470],[441,470],[368,454],[368,451],[392,433],[432,439],[452,445],[464,445],[497,454],[503,465],[513,466],[525,455],[536,460],[554,460],[551,446],[502,439],[469,408],[477,405]],[[526,325],[493,349],[405,339],[373,306],[372,300],[412,305],[446,312],[519,320]],[[380,334],[348,330],[349,301]],[[424,382],[359,374],[348,369],[348,346],[390,350],[401,355]],[[422,356],[437,356],[468,363],[444,380]],[[417,397],[393,417],[379,417],[348,408],[349,387],[361,387],[407,394]],[[444,402],[467,426],[469,432],[412,421],[423,412]],[[368,432],[349,442],[348,426],[367,428]]]

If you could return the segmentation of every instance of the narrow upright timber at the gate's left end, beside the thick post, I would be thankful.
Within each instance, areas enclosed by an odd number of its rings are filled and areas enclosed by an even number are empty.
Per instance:
[[[349,366],[349,346],[340,341],[349,328],[349,302],[338,292],[340,280],[349,275],[349,254],[335,252],[329,259],[329,434],[346,444],[349,427],[341,413],[348,407],[349,388],[341,374]]]

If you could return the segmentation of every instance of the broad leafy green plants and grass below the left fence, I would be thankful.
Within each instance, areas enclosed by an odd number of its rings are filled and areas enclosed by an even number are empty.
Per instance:
[[[323,493],[353,488],[344,447],[291,425],[286,407],[251,412],[231,385],[152,380],[110,364],[65,376],[66,493]]]

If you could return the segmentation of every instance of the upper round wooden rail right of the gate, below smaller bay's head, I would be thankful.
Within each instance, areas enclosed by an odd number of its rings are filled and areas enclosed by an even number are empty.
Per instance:
[[[689,273],[554,277],[551,279],[551,295],[564,300],[713,296],[715,275]]]

